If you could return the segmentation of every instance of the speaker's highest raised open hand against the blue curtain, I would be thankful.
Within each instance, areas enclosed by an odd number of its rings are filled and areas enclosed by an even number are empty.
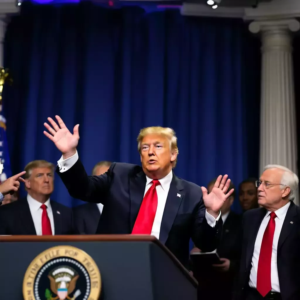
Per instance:
[[[79,141],[79,124],[75,125],[73,128],[73,134],[70,133],[66,125],[59,116],[55,116],[58,121],[59,126],[55,123],[52,118],[47,118],[52,127],[47,123],[44,126],[48,129],[44,131],[46,137],[48,137],[57,147],[57,149],[62,153],[64,159],[73,156],[76,153],[76,147]]]

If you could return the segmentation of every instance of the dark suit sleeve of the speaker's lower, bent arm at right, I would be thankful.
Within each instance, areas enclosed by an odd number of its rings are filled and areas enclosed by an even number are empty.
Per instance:
[[[208,225],[205,211],[206,208],[201,197],[195,209],[192,240],[195,246],[201,249],[202,252],[211,252],[217,249],[221,241],[223,221],[219,218],[214,227]]]

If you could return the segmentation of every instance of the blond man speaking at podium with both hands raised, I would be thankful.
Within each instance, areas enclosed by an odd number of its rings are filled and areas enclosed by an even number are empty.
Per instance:
[[[87,202],[102,202],[97,233],[149,234],[158,238],[187,266],[189,240],[203,251],[213,251],[221,238],[220,208],[233,193],[230,179],[220,175],[207,193],[205,187],[175,176],[178,147],[171,128],[148,127],[137,138],[142,167],[113,163],[101,176],[88,176],[76,150],[79,125],[73,134],[59,116],[44,131],[61,151],[57,173],[70,195]]]

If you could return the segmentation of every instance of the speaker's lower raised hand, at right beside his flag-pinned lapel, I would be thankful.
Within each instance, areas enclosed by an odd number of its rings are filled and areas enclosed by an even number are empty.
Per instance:
[[[219,215],[222,205],[233,193],[233,189],[226,193],[230,184],[230,179],[227,178],[228,175],[224,175],[223,179],[222,175],[219,175],[209,194],[205,187],[201,187],[204,205],[207,212],[213,217],[217,217]]]

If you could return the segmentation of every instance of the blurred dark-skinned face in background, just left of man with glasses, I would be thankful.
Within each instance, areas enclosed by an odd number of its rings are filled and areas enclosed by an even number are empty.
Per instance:
[[[255,184],[253,182],[242,183],[238,191],[238,199],[244,211],[257,208],[257,188]]]

